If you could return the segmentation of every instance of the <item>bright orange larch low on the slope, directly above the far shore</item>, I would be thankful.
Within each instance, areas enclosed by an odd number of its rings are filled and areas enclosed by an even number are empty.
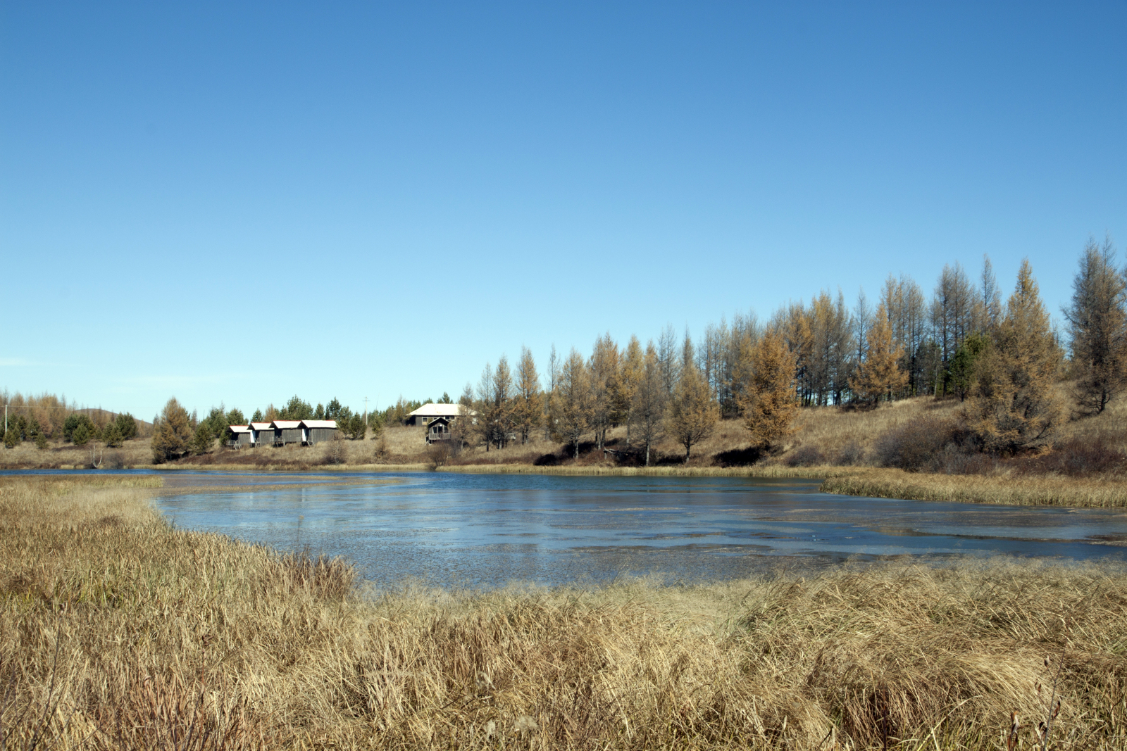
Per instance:
[[[744,423],[758,448],[769,448],[793,430],[798,414],[798,391],[795,386],[795,355],[778,333],[765,332],[745,355],[751,363],[742,369],[751,372],[740,395],[739,409]]]

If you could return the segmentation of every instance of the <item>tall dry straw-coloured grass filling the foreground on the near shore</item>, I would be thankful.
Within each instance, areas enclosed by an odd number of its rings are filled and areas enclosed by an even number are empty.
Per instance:
[[[5,748],[1031,749],[1057,667],[1055,748],[1127,748],[1121,567],[365,593],[135,484],[0,490]]]

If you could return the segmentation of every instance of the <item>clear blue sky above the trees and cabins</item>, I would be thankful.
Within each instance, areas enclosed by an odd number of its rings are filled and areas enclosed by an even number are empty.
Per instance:
[[[5,3],[0,387],[456,395],[1127,240],[1127,5]]]

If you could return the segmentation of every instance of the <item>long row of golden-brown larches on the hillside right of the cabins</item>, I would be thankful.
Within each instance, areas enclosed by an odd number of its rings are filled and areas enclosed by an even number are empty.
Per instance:
[[[1098,413],[1127,384],[1127,269],[1110,240],[1081,254],[1066,336],[1053,327],[1032,267],[1022,261],[1003,302],[990,258],[976,281],[944,266],[932,295],[911,277],[885,281],[877,305],[853,306],[838,292],[790,303],[769,320],[736,316],[710,324],[694,342],[666,327],[645,347],[620,347],[607,333],[589,356],[554,347],[544,383],[527,348],[515,369],[487,364],[460,403],[472,409],[459,438],[502,448],[533,431],[570,447],[625,428],[625,447],[648,465],[671,437],[689,461],[718,420],[742,419],[753,448],[769,450],[791,431],[801,406],[873,408],[908,396],[966,402],[967,426],[983,450],[1013,453],[1048,442],[1073,413]],[[1062,341],[1062,340],[1066,341]],[[1068,381],[1072,403],[1057,384]]]

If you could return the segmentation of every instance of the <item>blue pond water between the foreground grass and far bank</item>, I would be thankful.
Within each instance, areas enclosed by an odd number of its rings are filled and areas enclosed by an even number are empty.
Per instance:
[[[312,484],[358,479],[394,482]],[[699,581],[891,556],[1127,558],[1124,511],[829,495],[806,480],[208,473],[203,483],[158,499],[178,527],[344,555],[376,584]]]

